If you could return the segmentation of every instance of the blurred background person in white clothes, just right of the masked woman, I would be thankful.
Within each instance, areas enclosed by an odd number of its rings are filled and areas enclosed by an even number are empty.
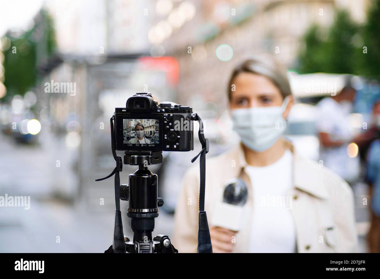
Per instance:
[[[350,85],[335,96],[323,98],[317,105],[317,130],[320,141],[320,159],[323,165],[336,172],[348,183],[359,175],[359,157],[349,157],[347,146],[355,141],[349,123],[356,91]]]

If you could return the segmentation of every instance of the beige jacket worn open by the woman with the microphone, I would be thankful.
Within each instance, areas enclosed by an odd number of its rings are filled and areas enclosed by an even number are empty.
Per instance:
[[[319,163],[300,157],[293,146],[293,185],[291,212],[296,227],[297,252],[356,252],[353,193],[349,185]],[[198,162],[198,160],[197,160]],[[242,229],[236,234],[234,252],[249,252],[253,210],[252,187],[244,172],[246,164],[241,145],[206,160],[205,209],[210,220],[216,201],[222,201],[226,182],[239,177],[248,187]],[[189,169],[179,194],[174,217],[174,246],[179,252],[196,252],[199,210],[199,165]],[[281,228],[279,227],[279,233]]]

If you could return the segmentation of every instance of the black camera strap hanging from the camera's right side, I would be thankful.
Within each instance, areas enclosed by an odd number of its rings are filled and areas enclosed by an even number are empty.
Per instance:
[[[209,152],[209,140],[204,137],[202,119],[194,114],[192,120],[199,122],[198,138],[202,144],[202,150],[191,162],[194,163],[199,157],[199,219],[198,219],[198,253],[212,253],[209,224],[206,211],[204,210],[204,195],[206,192],[206,153]]]

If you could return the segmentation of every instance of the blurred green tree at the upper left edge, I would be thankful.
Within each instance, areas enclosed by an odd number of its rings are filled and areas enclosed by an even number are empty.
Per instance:
[[[16,36],[8,32],[5,37],[10,45],[3,51],[7,94],[2,102],[9,101],[16,94],[23,96],[36,85],[38,64],[51,56],[56,47],[52,18],[44,10],[35,17],[32,29]]]

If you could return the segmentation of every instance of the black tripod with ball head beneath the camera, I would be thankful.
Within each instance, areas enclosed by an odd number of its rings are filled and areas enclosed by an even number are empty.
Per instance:
[[[164,201],[157,197],[158,176],[147,166],[160,163],[162,151],[125,151],[124,164],[139,166],[129,175],[128,184],[120,185],[120,199],[128,201],[127,216],[133,231],[133,240],[127,237],[125,241],[128,253],[178,253],[167,235],[152,238],[154,218]]]

